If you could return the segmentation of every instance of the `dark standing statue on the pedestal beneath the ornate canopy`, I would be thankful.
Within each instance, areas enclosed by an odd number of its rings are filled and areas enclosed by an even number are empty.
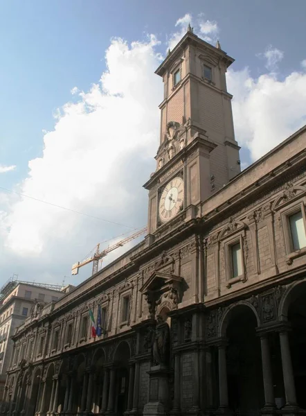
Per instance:
[[[156,365],[168,365],[170,355],[170,329],[161,315],[156,317],[157,324],[153,342],[153,360]]]

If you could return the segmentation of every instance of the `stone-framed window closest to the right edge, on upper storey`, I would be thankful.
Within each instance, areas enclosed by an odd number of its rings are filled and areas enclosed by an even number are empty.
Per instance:
[[[280,209],[280,221],[285,241],[287,263],[306,254],[305,202],[298,201]]]

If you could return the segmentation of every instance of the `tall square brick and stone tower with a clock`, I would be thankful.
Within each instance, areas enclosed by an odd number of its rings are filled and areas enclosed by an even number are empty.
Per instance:
[[[148,234],[155,234],[240,173],[226,70],[234,62],[219,42],[201,40],[190,25],[156,69],[163,78],[160,145],[149,190]]]

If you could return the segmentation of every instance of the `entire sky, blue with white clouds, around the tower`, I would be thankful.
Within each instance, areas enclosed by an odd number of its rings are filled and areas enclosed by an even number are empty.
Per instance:
[[[305,125],[305,15],[305,0],[0,1],[0,286],[79,284],[91,265],[73,263],[146,225],[154,71],[189,22],[235,58],[242,168]]]

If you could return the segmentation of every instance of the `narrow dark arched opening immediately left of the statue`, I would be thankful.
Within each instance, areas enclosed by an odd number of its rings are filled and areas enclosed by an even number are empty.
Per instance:
[[[123,341],[118,345],[114,357],[114,365],[116,365],[116,404],[114,410],[118,416],[123,416],[127,410],[130,358],[129,345]]]

